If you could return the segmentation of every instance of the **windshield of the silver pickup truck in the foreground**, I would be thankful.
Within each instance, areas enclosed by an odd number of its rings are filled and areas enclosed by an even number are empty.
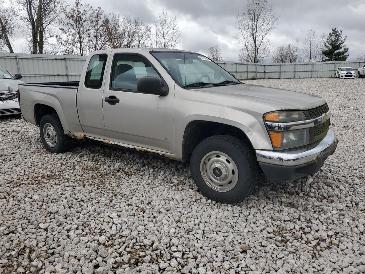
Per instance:
[[[184,52],[151,52],[180,87],[211,87],[241,84],[205,56]]]

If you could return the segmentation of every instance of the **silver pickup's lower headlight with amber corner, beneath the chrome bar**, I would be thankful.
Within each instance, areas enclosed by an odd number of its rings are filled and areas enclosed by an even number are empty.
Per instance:
[[[269,132],[274,149],[288,149],[309,144],[309,129]]]

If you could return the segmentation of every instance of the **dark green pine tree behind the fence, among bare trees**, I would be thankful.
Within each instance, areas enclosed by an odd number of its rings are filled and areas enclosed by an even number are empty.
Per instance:
[[[342,38],[342,30],[333,28],[324,42],[323,61],[345,61],[349,57],[349,47],[345,46],[346,36]]]

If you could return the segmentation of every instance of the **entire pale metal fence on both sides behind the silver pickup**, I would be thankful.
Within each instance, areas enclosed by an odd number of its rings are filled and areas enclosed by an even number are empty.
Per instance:
[[[87,56],[0,53],[0,65],[10,73],[19,73],[26,83],[78,81]],[[238,79],[280,79],[334,77],[339,66],[362,67],[361,61],[255,64],[217,62]]]

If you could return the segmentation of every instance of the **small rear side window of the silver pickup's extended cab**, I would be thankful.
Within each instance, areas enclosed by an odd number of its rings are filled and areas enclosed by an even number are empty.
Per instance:
[[[103,83],[107,54],[96,54],[91,57],[85,77],[85,87],[100,88]]]

